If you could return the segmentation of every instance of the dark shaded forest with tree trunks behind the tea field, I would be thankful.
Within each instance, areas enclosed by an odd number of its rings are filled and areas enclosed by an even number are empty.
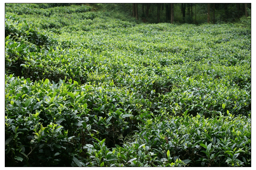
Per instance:
[[[250,3],[119,3],[93,4],[96,8],[118,11],[147,23],[237,22],[250,14]]]

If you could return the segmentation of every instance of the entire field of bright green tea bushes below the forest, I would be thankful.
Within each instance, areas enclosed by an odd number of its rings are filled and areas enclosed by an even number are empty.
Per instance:
[[[195,26],[85,5],[5,10],[6,166],[251,166],[245,18]]]

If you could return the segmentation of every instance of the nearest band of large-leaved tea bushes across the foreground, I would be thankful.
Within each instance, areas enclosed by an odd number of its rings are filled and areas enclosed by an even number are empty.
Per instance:
[[[249,117],[228,110],[228,116],[210,119],[188,110],[181,116],[145,109],[132,115],[135,94],[102,87],[6,76],[6,164],[250,165]]]

